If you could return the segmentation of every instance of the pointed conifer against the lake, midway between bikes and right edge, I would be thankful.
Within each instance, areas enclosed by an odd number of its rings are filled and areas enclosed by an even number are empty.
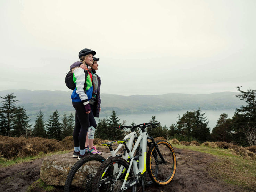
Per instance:
[[[204,142],[210,139],[210,128],[207,127],[209,121],[204,117],[205,113],[201,112],[201,109],[194,111],[194,124],[193,130],[191,131],[192,137],[196,138],[197,141]]]

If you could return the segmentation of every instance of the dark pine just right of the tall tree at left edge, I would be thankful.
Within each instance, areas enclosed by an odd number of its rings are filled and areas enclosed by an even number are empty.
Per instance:
[[[25,136],[32,124],[28,124],[30,120],[28,120],[29,116],[26,114],[26,110],[23,106],[19,106],[16,109],[16,113],[13,118],[13,127],[10,131],[11,135],[19,137]]]

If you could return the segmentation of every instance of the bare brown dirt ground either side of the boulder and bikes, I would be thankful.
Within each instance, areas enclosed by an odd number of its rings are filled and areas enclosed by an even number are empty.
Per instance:
[[[100,149],[100,148],[99,148]],[[174,179],[166,186],[146,188],[151,192],[238,192],[233,186],[218,181],[207,172],[207,165],[216,157],[206,153],[174,148],[177,170]],[[0,168],[0,191],[25,192],[39,179],[43,158]]]

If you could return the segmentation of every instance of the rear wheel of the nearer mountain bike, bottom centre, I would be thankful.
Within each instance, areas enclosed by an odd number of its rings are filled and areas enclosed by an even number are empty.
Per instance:
[[[127,184],[136,179],[132,169],[126,178],[128,167],[128,162],[121,157],[110,157],[104,161],[93,178],[92,192],[121,192],[124,180],[126,180]],[[135,184],[122,192],[136,192],[136,189],[137,186]]]

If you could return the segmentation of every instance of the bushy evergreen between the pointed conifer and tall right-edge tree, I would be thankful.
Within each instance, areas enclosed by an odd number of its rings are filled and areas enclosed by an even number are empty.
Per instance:
[[[212,139],[215,141],[230,142],[232,140],[231,127],[232,122],[231,119],[228,119],[228,114],[221,114],[216,126],[212,130]]]

